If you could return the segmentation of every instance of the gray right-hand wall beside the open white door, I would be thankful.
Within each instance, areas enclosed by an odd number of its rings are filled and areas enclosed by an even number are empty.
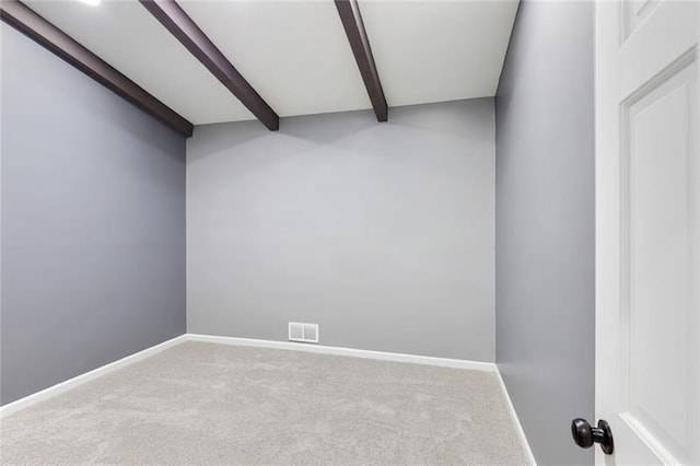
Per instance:
[[[495,115],[499,368],[538,463],[592,463],[593,3],[521,2]]]

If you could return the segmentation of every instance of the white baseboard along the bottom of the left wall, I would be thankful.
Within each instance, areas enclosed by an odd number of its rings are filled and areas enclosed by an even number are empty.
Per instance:
[[[52,385],[48,388],[44,388],[40,392],[25,396],[24,398],[20,398],[15,401],[9,403],[0,407],[0,419],[4,418],[5,416],[10,416],[13,412],[19,411],[20,409],[24,409],[28,406],[36,405],[39,401],[44,401],[45,399],[55,397],[56,395],[59,395],[63,392],[68,392],[71,388],[75,388],[77,386],[82,385],[85,382],[95,380],[102,375],[108,374],[109,372],[114,372],[129,364],[133,364],[137,361],[141,361],[143,359],[150,358],[153,354],[159,353],[163,350],[166,350],[167,348],[174,347],[175,345],[178,345],[185,340],[187,340],[187,335],[180,335],[179,337],[175,337],[173,339],[163,341],[162,343],[155,345],[154,347],[151,347],[151,348],[147,348],[143,351],[139,351],[131,356],[127,356],[126,358],[121,358],[117,361],[102,365],[97,369],[93,369],[90,372],[85,372],[84,374],[80,374],[67,381]]]

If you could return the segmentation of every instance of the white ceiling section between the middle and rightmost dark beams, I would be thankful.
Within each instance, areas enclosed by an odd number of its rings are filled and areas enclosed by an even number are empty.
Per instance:
[[[332,0],[179,4],[280,116],[372,107]]]

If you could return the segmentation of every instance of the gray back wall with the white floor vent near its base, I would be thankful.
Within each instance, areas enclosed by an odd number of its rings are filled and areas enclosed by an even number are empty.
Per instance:
[[[492,100],[197,127],[188,331],[494,360]]]

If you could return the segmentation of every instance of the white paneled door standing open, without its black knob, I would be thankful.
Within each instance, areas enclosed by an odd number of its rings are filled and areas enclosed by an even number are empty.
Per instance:
[[[596,463],[700,464],[700,0],[596,3]]]

